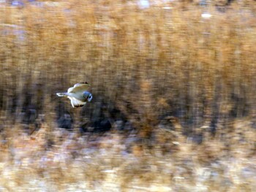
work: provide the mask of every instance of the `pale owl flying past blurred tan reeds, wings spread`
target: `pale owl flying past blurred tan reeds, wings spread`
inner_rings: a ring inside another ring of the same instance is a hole
[[[78,82],[67,90],[67,93],[56,93],[57,96],[67,96],[70,99],[72,107],[83,107],[86,102],[90,102],[92,94],[87,91],[90,87],[88,82]]]

